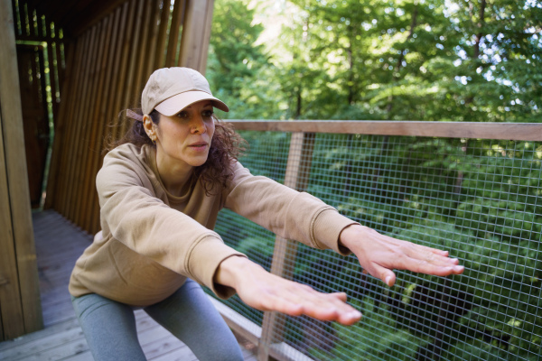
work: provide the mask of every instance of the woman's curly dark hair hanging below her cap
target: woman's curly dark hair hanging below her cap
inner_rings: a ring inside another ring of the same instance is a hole
[[[143,116],[141,109],[131,109],[135,114]],[[126,111],[121,112],[119,117],[125,118],[121,121],[126,121]],[[153,123],[160,123],[160,113],[153,110],[151,114]],[[207,162],[199,167],[195,167],[192,173],[192,182],[200,180],[201,186],[205,190],[205,194],[219,194],[223,188],[229,187],[229,181],[233,179],[233,164],[237,162],[246,150],[248,143],[238,133],[230,123],[222,122],[217,116],[213,115],[215,120],[215,133],[210,142],[209,156]],[[121,123],[122,124],[122,123]],[[124,143],[132,143],[137,147],[145,144],[156,147],[156,144],[151,141],[145,132],[143,122],[133,120],[132,126],[126,131],[126,134],[119,140],[109,139],[107,142],[106,151],[116,148]],[[220,185],[218,189],[217,185]]]

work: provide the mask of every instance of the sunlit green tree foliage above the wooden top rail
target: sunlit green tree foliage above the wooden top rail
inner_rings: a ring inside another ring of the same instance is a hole
[[[217,0],[208,76],[235,118],[540,122],[540,23],[530,0]]]

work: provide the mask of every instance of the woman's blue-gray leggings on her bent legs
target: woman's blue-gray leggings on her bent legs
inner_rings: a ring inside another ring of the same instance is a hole
[[[72,297],[71,301],[96,361],[146,360],[137,341],[133,307],[96,293]],[[144,310],[190,347],[200,361],[243,359],[228,325],[192,280]]]

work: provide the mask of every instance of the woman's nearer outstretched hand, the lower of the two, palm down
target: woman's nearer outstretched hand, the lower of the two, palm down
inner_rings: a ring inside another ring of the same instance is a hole
[[[241,256],[231,256],[219,266],[215,282],[234,288],[242,301],[257,310],[276,310],[290,316],[338,321],[344,325],[361,319],[346,303],[346,293],[322,293],[312,287],[268,273]]]

